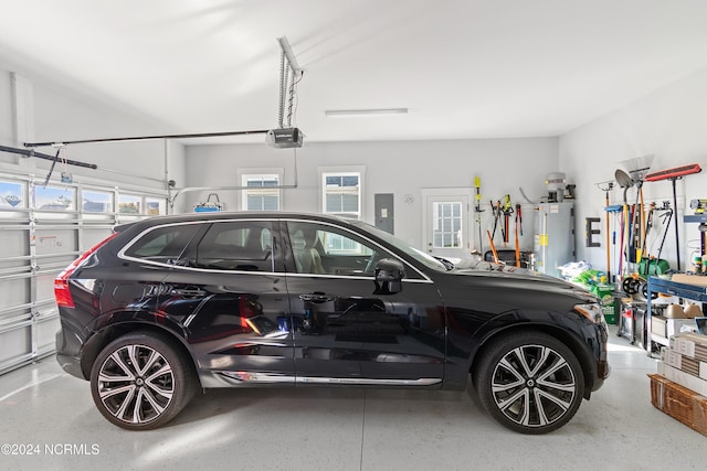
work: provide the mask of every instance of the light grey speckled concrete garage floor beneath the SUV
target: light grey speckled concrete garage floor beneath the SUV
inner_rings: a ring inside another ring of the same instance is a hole
[[[500,427],[467,393],[337,388],[209,390],[167,427],[129,432],[49,357],[0,376],[0,443],[35,452],[3,446],[0,469],[705,469],[707,437],[651,405],[656,361],[614,332],[604,387],[539,437]]]

